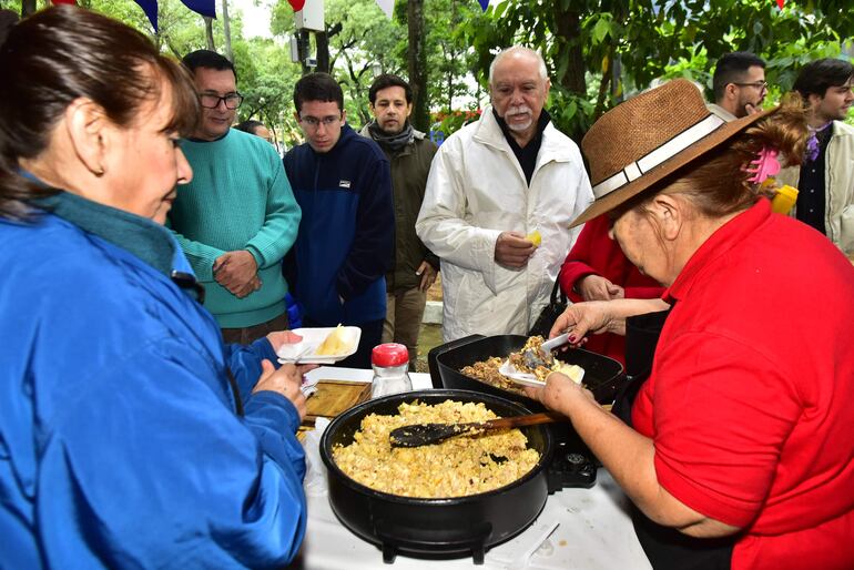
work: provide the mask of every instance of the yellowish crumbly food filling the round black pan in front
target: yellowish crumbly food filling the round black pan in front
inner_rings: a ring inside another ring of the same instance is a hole
[[[465,497],[498,489],[529,472],[540,460],[519,429],[479,437],[453,437],[423,447],[392,447],[389,432],[411,424],[484,421],[498,416],[482,403],[445,400],[400,404],[398,415],[370,414],[347,446],[333,449],[335,464],[372,489],[418,498]]]

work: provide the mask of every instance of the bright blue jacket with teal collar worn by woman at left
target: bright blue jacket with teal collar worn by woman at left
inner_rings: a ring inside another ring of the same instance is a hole
[[[293,404],[251,394],[270,343],[223,346],[162,226],[50,210],[0,218],[0,567],[285,566],[305,459]]]

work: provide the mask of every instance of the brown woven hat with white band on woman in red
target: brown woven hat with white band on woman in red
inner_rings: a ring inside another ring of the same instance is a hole
[[[596,201],[570,227],[613,210],[772,112],[728,123],[709,112],[700,91],[684,79],[617,105],[581,141]]]

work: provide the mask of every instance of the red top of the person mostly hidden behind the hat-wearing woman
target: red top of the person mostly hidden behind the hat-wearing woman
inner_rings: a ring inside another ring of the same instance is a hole
[[[643,275],[626,257],[620,245],[608,236],[610,227],[607,216],[598,216],[584,224],[560,267],[560,288],[573,303],[580,303],[584,299],[572,291],[576,283],[588,275],[601,275],[621,286],[626,298],[659,298],[664,287]],[[626,364],[626,337],[622,335],[590,335],[584,348]]]

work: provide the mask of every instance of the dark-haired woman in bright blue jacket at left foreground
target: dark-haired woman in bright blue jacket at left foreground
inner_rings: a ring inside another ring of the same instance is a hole
[[[162,226],[191,79],[71,6],[0,43],[0,567],[286,564],[305,370],[223,346]]]

